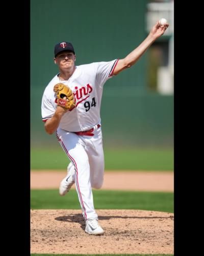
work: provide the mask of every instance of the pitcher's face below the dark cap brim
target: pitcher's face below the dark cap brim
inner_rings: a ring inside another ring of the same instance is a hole
[[[55,62],[60,69],[72,68],[75,62],[75,55],[72,52],[64,51],[57,55]]]

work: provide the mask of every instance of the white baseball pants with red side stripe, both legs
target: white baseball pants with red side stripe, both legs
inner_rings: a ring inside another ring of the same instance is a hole
[[[97,218],[92,188],[100,188],[104,181],[104,151],[101,127],[94,126],[94,136],[79,136],[62,129],[57,138],[75,167],[75,187],[84,219]]]

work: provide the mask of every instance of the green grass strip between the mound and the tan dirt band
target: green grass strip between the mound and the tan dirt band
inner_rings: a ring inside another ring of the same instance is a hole
[[[95,209],[141,209],[173,212],[173,193],[93,190]],[[31,209],[81,209],[77,191],[65,197],[57,189],[31,190]]]

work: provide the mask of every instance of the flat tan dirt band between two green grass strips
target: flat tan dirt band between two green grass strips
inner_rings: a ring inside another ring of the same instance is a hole
[[[60,181],[66,176],[64,172],[42,170],[31,172],[31,188],[59,188]],[[72,186],[74,189],[74,185]],[[101,189],[136,190],[136,191],[173,191],[173,172],[105,172]]]

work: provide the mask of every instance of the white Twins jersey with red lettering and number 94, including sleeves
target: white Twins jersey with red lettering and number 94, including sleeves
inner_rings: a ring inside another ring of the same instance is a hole
[[[62,116],[59,129],[68,132],[87,131],[100,123],[103,86],[113,76],[117,62],[118,59],[115,59],[77,66],[72,76],[65,81],[60,81],[57,74],[45,88],[42,97],[42,120],[51,118],[56,111],[57,100],[53,89],[60,82],[72,90],[76,106]]]

